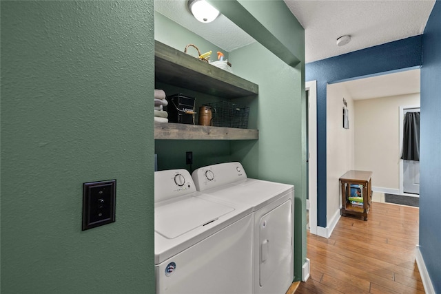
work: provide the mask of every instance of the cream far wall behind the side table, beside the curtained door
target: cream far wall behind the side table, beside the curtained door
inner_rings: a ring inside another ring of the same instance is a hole
[[[355,102],[355,168],[373,171],[372,186],[399,189],[400,106],[419,105],[420,94]]]

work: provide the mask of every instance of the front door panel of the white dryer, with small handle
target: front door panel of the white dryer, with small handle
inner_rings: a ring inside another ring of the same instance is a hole
[[[260,218],[259,284],[262,290],[274,289],[273,286],[277,285],[285,287],[281,283],[285,280],[292,282],[289,276],[294,271],[292,223],[291,200],[283,202]]]

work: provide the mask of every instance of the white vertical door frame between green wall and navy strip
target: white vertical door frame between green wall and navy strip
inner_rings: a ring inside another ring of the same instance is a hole
[[[305,82],[309,91],[308,102],[308,145],[309,145],[309,233],[317,235],[317,81]]]

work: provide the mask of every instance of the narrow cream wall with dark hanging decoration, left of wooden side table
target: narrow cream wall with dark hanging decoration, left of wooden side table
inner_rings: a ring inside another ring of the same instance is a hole
[[[349,110],[349,129],[343,128],[343,98]],[[327,85],[327,227],[340,216],[339,178],[354,169],[354,105],[342,84]]]

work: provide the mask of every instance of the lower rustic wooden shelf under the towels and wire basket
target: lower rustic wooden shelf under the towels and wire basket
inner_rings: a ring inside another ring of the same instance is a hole
[[[258,136],[257,129],[154,123],[156,140],[256,140]]]

